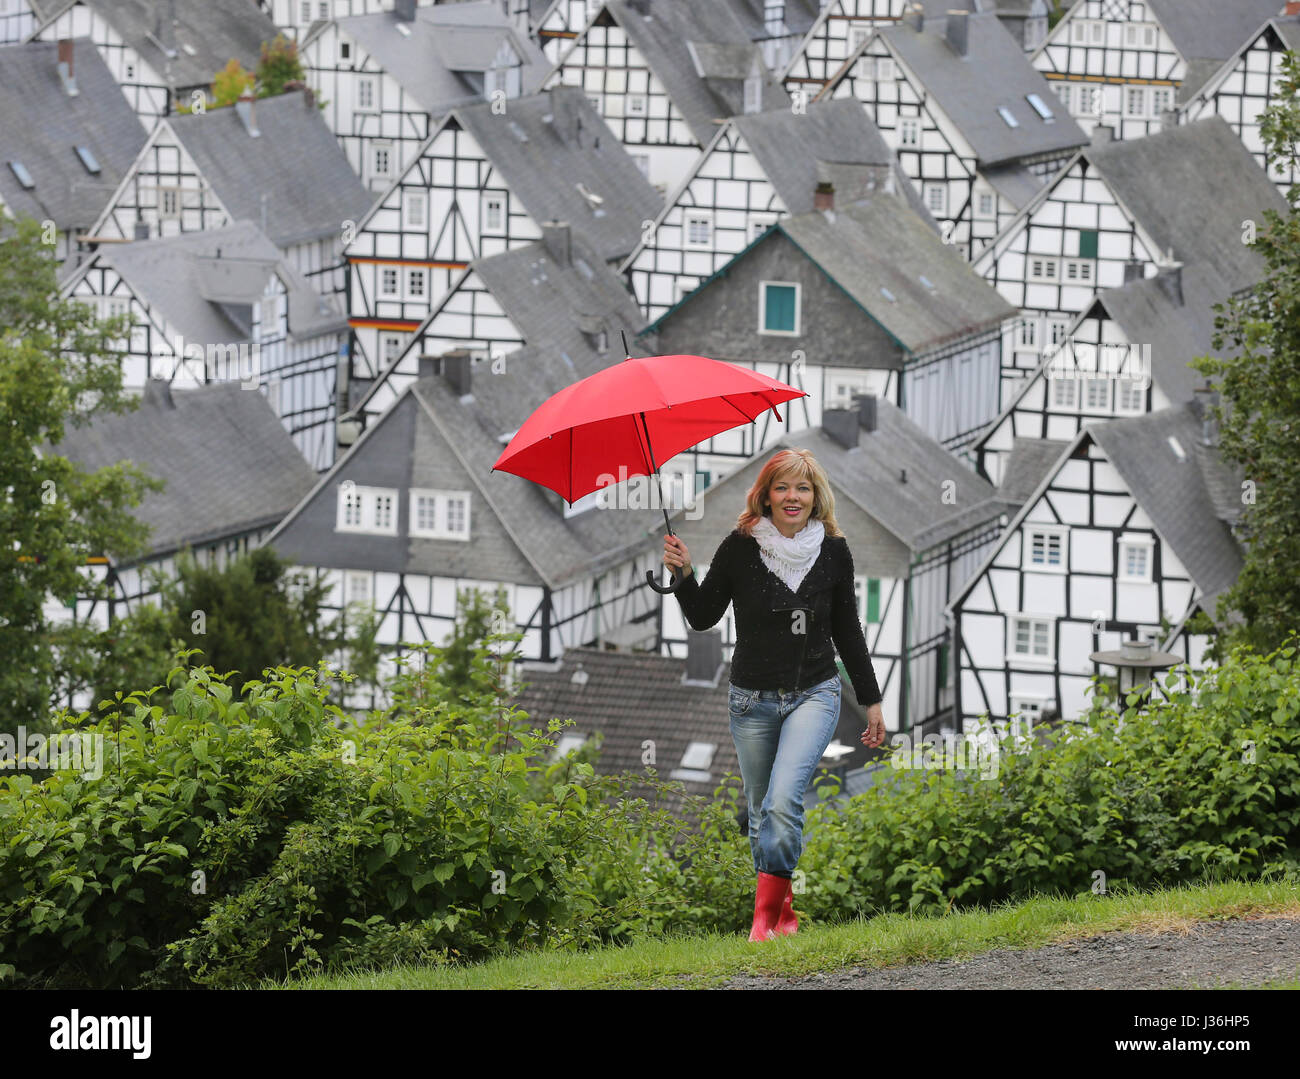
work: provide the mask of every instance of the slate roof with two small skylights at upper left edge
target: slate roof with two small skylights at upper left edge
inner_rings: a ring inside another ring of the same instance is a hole
[[[147,131],[88,38],[73,40],[69,98],[58,77],[58,46],[32,42],[0,48],[0,200],[17,217],[88,229],[144,146]],[[91,173],[74,147],[84,146]],[[10,168],[21,161],[34,186]]]

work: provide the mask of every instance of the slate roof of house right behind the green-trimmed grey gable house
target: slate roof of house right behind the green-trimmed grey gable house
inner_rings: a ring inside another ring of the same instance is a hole
[[[845,166],[866,166],[857,170],[864,178],[893,169],[893,152],[857,101],[819,101],[803,114],[792,109],[750,113],[733,117],[732,124],[790,213],[812,209],[812,192],[828,178],[828,166],[841,166],[845,176],[853,172]],[[836,190],[846,195],[842,178]]]

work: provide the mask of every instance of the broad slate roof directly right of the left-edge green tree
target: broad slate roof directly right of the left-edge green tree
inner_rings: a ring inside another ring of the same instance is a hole
[[[133,511],[150,554],[274,524],[316,482],[265,396],[239,382],[146,390],[138,411],[69,428],[55,447],[86,469],[131,462],[162,478]]]

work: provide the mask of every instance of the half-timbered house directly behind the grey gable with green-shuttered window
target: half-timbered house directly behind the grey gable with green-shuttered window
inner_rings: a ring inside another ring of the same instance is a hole
[[[819,182],[842,203],[872,191],[914,195],[854,101],[732,117],[620,268],[641,309],[658,318],[770,225],[811,211]]]

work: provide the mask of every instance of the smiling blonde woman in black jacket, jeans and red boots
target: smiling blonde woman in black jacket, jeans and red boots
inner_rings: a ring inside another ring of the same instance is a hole
[[[867,708],[863,745],[879,746],[885,737],[880,688],[858,620],[853,556],[835,520],[826,469],[807,450],[774,455],[703,582],[681,538],[663,541],[664,564],[681,567],[673,594],[693,629],[708,629],[734,606],[731,732],[758,874],[749,939],[793,933],[803,792],[840,720],[836,649]]]

